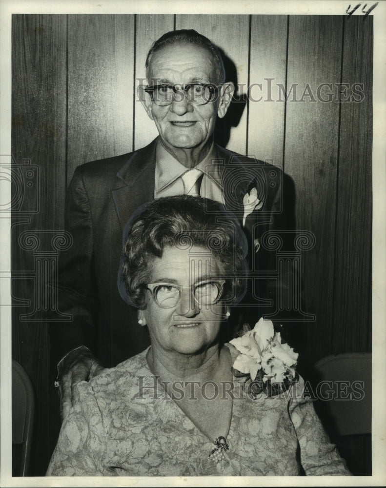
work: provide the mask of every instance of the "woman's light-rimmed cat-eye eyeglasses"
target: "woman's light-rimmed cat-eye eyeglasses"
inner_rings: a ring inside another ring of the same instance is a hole
[[[178,304],[183,289],[193,289],[193,298],[199,305],[216,304],[223,293],[225,280],[202,281],[190,286],[180,286],[172,283],[151,283],[146,287],[157,305],[171,308]]]

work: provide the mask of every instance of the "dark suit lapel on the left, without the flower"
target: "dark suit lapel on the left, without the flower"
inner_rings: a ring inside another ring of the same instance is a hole
[[[111,194],[122,231],[140,205],[154,200],[156,145],[157,139],[135,151],[117,173],[125,186],[112,190]]]

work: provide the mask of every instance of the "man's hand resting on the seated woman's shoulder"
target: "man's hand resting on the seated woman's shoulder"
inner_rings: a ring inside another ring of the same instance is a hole
[[[73,349],[61,359],[55,386],[59,388],[62,421],[76,402],[78,383],[91,380],[103,369],[98,359],[85,346]]]

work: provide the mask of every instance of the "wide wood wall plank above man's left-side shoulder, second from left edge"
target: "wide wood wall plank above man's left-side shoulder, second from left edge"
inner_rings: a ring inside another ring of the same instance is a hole
[[[132,150],[134,16],[68,16],[68,181]]]

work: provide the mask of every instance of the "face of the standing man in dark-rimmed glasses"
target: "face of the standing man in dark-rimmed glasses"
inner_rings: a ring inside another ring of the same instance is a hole
[[[153,55],[149,68],[150,84],[151,80],[171,85],[219,83],[211,54],[191,44],[164,47]],[[217,115],[223,117],[227,109],[221,96],[214,102],[197,105],[188,102],[180,92],[170,105],[157,105],[150,97],[144,105],[163,143],[172,148],[203,146],[213,134]]]

